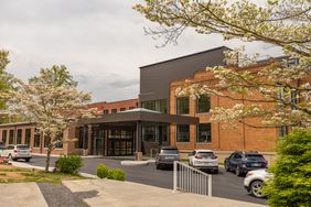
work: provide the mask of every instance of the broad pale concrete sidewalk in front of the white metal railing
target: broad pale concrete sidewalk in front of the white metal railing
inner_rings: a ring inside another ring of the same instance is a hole
[[[97,190],[98,196],[84,199],[92,207],[262,207],[251,203],[186,194],[170,189],[111,179],[64,181],[73,193]]]

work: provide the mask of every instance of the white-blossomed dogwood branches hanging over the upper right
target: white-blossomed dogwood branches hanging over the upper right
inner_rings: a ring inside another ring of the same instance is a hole
[[[159,23],[160,26],[146,31],[163,37],[163,45],[175,43],[185,29],[194,29],[199,34],[222,34],[225,40],[261,41],[280,46],[287,59],[299,59],[299,64],[270,61],[260,72],[251,73],[243,68],[254,64],[256,55],[234,50],[226,54],[228,65],[234,67],[207,68],[218,79],[216,88],[185,81],[176,95],[196,98],[207,94],[239,101],[232,108],[212,111],[213,121],[229,126],[248,117],[260,117],[264,127],[310,127],[311,1],[144,0],[135,9]],[[240,98],[235,94],[242,95]],[[251,98],[254,94],[261,98]],[[264,107],[266,103],[276,107]]]

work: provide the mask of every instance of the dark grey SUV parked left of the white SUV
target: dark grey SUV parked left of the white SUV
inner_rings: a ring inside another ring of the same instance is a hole
[[[161,146],[156,156],[157,168],[162,166],[173,166],[174,161],[180,161],[180,152],[175,146]]]

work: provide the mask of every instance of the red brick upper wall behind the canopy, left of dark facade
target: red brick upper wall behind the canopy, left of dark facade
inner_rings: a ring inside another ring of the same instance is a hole
[[[117,112],[121,111],[121,108],[125,108],[126,110],[129,110],[131,108],[138,107],[138,99],[129,99],[129,100],[120,100],[120,101],[114,101],[114,102],[94,102],[88,105],[89,108],[97,108],[101,113],[104,110],[108,110],[108,113],[112,113],[112,109],[117,109]]]

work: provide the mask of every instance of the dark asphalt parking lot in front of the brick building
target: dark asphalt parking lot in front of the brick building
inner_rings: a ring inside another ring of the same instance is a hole
[[[56,157],[51,157],[51,165],[53,166]],[[23,161],[21,161],[23,162]],[[44,166],[45,157],[34,156],[30,163],[35,166]],[[96,174],[96,166],[105,164],[111,168],[122,168],[126,172],[127,181],[152,185],[163,188],[173,188],[173,172],[170,170],[156,170],[154,163],[147,166],[122,166],[119,160],[107,159],[84,159],[83,173]],[[218,174],[213,174],[213,196],[250,201],[256,204],[266,204],[266,199],[255,198],[249,195],[243,186],[243,177],[237,177],[234,173],[225,172],[219,167]]]

